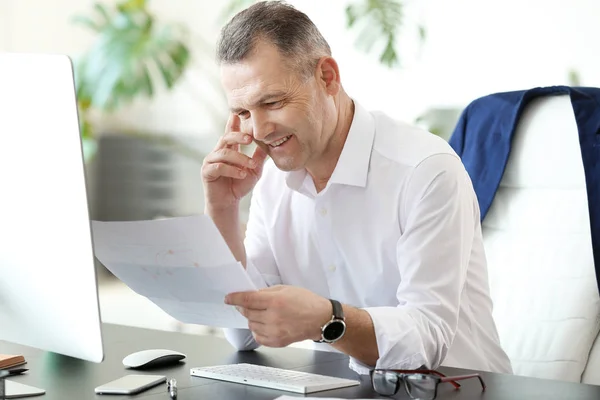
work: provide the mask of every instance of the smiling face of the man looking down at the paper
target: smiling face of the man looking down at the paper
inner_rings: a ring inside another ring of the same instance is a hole
[[[305,168],[324,151],[335,128],[333,102],[314,76],[290,68],[275,46],[257,44],[247,60],[224,65],[221,80],[241,131],[279,169]]]

